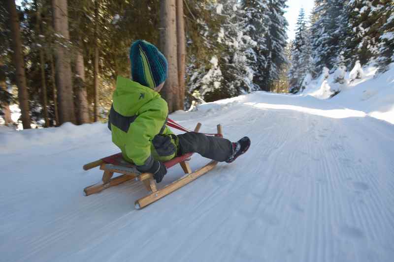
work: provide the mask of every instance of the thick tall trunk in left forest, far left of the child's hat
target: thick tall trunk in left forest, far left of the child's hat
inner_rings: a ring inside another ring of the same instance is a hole
[[[68,31],[67,0],[52,0],[53,21],[56,33],[60,34],[61,44],[55,48],[56,78],[59,98],[59,124],[75,123],[74,95],[69,49],[64,45],[70,39]]]

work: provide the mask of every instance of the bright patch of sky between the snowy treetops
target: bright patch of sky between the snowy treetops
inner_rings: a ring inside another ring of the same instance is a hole
[[[299,9],[303,7],[305,9],[306,18],[309,18],[309,15],[313,9],[313,4],[314,4],[314,0],[288,0],[287,1],[287,5],[289,7],[286,9],[287,12],[285,13],[285,17],[287,19],[287,22],[289,22],[289,27],[287,32],[289,35],[289,39],[288,39],[289,41],[295,38],[295,33],[296,33],[295,29],[296,29]]]

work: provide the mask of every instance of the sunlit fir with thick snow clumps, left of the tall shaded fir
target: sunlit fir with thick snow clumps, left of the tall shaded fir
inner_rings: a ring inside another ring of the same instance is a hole
[[[222,53],[213,58],[213,67],[220,70],[221,82],[216,78],[214,83],[201,88],[200,93],[206,101],[228,98],[257,89],[253,77],[257,56],[254,52],[256,42],[247,34],[245,11],[238,0],[218,1],[220,15],[224,23],[218,34],[218,46]],[[207,74],[209,74],[208,71]],[[211,78],[207,77],[207,81]]]

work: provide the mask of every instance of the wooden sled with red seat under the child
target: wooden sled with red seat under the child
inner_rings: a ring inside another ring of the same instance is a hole
[[[200,127],[201,127],[201,123],[198,123],[194,131],[198,132]],[[223,136],[221,125],[217,125],[217,130],[218,130],[218,135]],[[144,184],[145,188],[149,191],[149,194],[147,196],[142,197],[134,202],[134,206],[136,209],[143,208],[148,204],[152,204],[153,202],[158,201],[159,199],[165,197],[166,195],[192,182],[193,180],[197,179],[201,175],[204,175],[205,173],[213,169],[218,163],[212,160],[207,165],[196,170],[195,172],[192,172],[192,169],[190,168],[189,163],[187,162],[188,160],[190,160],[192,154],[193,153],[188,153],[183,156],[175,157],[170,161],[164,163],[167,169],[171,168],[172,166],[175,166],[176,164],[179,164],[186,175],[164,186],[161,189],[157,188],[156,181],[153,178],[152,174],[139,173],[135,169],[135,166],[123,160],[122,153],[111,155],[102,158],[100,160],[97,160],[95,162],[86,164],[83,166],[84,170],[100,167],[100,170],[102,170],[104,174],[102,175],[102,179],[101,179],[102,182],[88,186],[84,189],[85,196],[99,193],[102,190],[107,189],[109,187],[119,185],[131,179],[135,179],[137,181],[138,180],[141,181]],[[119,173],[122,175],[112,178],[114,173]]]

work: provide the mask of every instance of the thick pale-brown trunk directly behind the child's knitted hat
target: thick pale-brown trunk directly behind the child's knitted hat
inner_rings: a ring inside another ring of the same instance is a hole
[[[167,101],[168,111],[172,113],[180,109],[175,0],[160,2],[160,49],[168,62],[168,78],[162,96]]]

